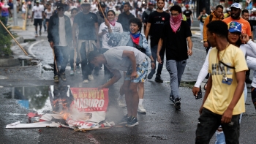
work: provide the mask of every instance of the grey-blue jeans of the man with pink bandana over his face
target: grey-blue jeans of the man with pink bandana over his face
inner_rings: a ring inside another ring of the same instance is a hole
[[[170,74],[170,96],[174,99],[179,97],[178,87],[181,83],[181,76],[187,64],[187,59],[182,61],[168,60],[166,61],[166,69]]]

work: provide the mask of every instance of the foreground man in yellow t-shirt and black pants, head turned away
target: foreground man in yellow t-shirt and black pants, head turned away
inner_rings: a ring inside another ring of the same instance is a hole
[[[239,118],[245,112],[244,80],[248,69],[244,53],[227,42],[227,24],[216,20],[207,25],[209,53],[206,94],[200,107],[195,143],[209,143],[219,125],[226,143],[239,143]],[[236,26],[234,26],[236,29]]]

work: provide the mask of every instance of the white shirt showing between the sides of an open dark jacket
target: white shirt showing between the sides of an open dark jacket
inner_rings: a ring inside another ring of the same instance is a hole
[[[67,46],[64,16],[59,17],[59,46]]]

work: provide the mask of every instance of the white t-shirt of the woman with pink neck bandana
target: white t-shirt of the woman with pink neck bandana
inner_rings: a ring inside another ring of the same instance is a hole
[[[110,24],[110,28],[112,29],[112,32],[123,32],[123,27],[121,26],[121,23],[116,22],[115,26],[112,26]],[[99,33],[102,32],[102,29],[105,29],[108,31],[108,26],[105,25],[105,23],[102,23],[99,26]],[[102,36],[102,48],[113,48],[115,46],[114,39],[110,39],[110,36],[108,33],[104,34]],[[117,42],[118,43],[118,42]]]

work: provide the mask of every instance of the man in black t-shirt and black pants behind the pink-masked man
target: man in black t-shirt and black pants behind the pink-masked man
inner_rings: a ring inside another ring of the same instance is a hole
[[[165,22],[170,20],[170,14],[168,14],[163,10],[163,7],[165,7],[165,1],[158,0],[157,7],[158,7],[157,10],[154,12],[151,12],[151,14],[148,16],[148,23],[146,24],[146,31],[145,31],[145,36],[147,39],[148,39],[148,35],[150,35],[151,53],[154,58],[155,64],[157,60],[157,44],[161,37],[161,33],[159,33],[159,31],[162,31]],[[160,56],[162,58],[161,61],[163,61],[164,55],[165,53],[162,53],[162,55]],[[158,64],[157,75],[156,75],[156,78],[154,79],[158,83],[163,82],[161,78],[162,65],[163,64],[160,64],[160,63]],[[156,69],[151,69],[151,72],[148,74],[148,79],[151,79],[155,72],[156,72]]]

